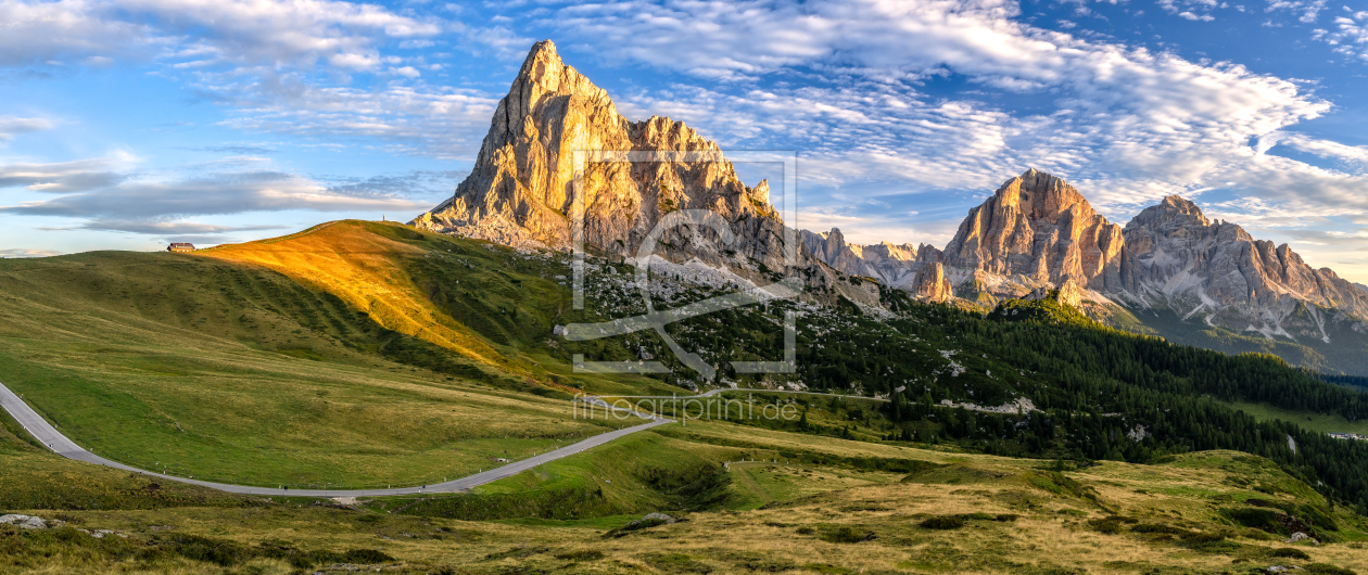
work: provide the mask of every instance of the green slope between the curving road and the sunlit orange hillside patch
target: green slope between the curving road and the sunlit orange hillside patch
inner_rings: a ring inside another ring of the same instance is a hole
[[[5,260],[0,294],[0,381],[82,445],[140,467],[248,485],[416,485],[603,429],[483,369],[476,381],[510,389],[395,363],[477,367],[254,265]]]

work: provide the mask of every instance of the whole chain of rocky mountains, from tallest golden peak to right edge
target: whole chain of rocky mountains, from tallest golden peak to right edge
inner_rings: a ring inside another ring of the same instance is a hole
[[[575,154],[581,150],[692,158],[591,163],[576,190]],[[733,243],[720,242],[706,225],[684,225],[662,235],[655,253],[757,283],[780,272],[802,275],[810,296],[828,303],[845,298],[880,306],[884,285],[925,302],[988,310],[1057,290],[1060,300],[1122,329],[1368,376],[1368,288],[1306,265],[1287,244],[1211,221],[1176,195],[1122,227],[1063,179],[1027,169],[971,209],[944,250],[847,243],[840,229],[799,231],[798,257],[787,261],[784,238],[792,231],[770,206],[766,182],[741,183],[717,143],[681,122],[628,120],[603,89],[543,41],[499,101],[472,173],[412,224],[565,250],[573,244],[577,209],[586,246],[624,258],[635,257],[636,246],[673,212],[715,213],[735,231]]]

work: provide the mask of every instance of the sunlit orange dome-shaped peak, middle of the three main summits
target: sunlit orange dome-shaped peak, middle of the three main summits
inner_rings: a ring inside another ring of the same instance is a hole
[[[941,262],[966,280],[974,272],[1007,279],[975,287],[1005,295],[1068,279],[1119,291],[1129,280],[1123,246],[1120,225],[1097,214],[1064,180],[1033,168],[970,210]]]

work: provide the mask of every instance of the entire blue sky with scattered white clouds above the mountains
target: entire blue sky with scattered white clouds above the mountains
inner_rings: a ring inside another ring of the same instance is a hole
[[[542,38],[629,119],[798,150],[802,228],[944,246],[1036,167],[1368,283],[1361,0],[0,0],[0,255],[408,220]]]

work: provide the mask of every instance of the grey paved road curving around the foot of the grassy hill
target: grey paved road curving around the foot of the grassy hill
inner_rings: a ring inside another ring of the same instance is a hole
[[[596,403],[601,407],[613,408],[607,406],[607,403],[603,403],[596,397],[590,397],[587,400]],[[665,423],[673,423],[673,419],[666,419],[659,417],[651,418],[651,417],[644,417],[642,414],[636,414],[643,419],[650,419],[650,422],[633,427],[618,429],[616,432],[601,433],[584,441],[570,444],[555,451],[550,451],[520,462],[513,462],[505,464],[503,467],[495,467],[492,470],[477,473],[471,477],[462,477],[456,481],[447,481],[445,483],[432,483],[417,488],[397,488],[397,489],[324,490],[324,489],[271,489],[271,488],[253,488],[246,485],[215,483],[211,481],[187,479],[183,477],[163,475],[159,473],[140,470],[137,467],[130,467],[119,462],[111,462],[89,451],[85,451],[81,445],[77,445],[75,441],[71,441],[70,438],[67,438],[67,436],[63,436],[62,432],[57,432],[57,429],[53,427],[52,423],[48,423],[48,421],[42,418],[42,415],[38,415],[37,411],[29,407],[29,404],[25,403],[22,399],[19,399],[19,396],[14,395],[14,392],[10,391],[10,388],[7,388],[4,384],[0,384],[0,407],[4,407],[4,410],[8,411],[10,415],[14,417],[19,422],[19,425],[22,425],[23,429],[29,432],[29,434],[31,434],[34,438],[47,445],[48,449],[52,449],[57,455],[67,459],[75,459],[78,462],[94,463],[97,466],[140,473],[148,477],[156,477],[167,481],[178,481],[182,483],[198,485],[228,493],[245,493],[257,496],[301,496],[301,497],[361,497],[361,496],[373,497],[373,496],[406,496],[406,494],[423,494],[423,493],[464,492],[479,485],[517,475],[523,471],[527,471],[543,463],[554,462],[557,459],[575,455],[598,445],[603,445],[622,436],[628,436],[636,432],[643,432]]]

